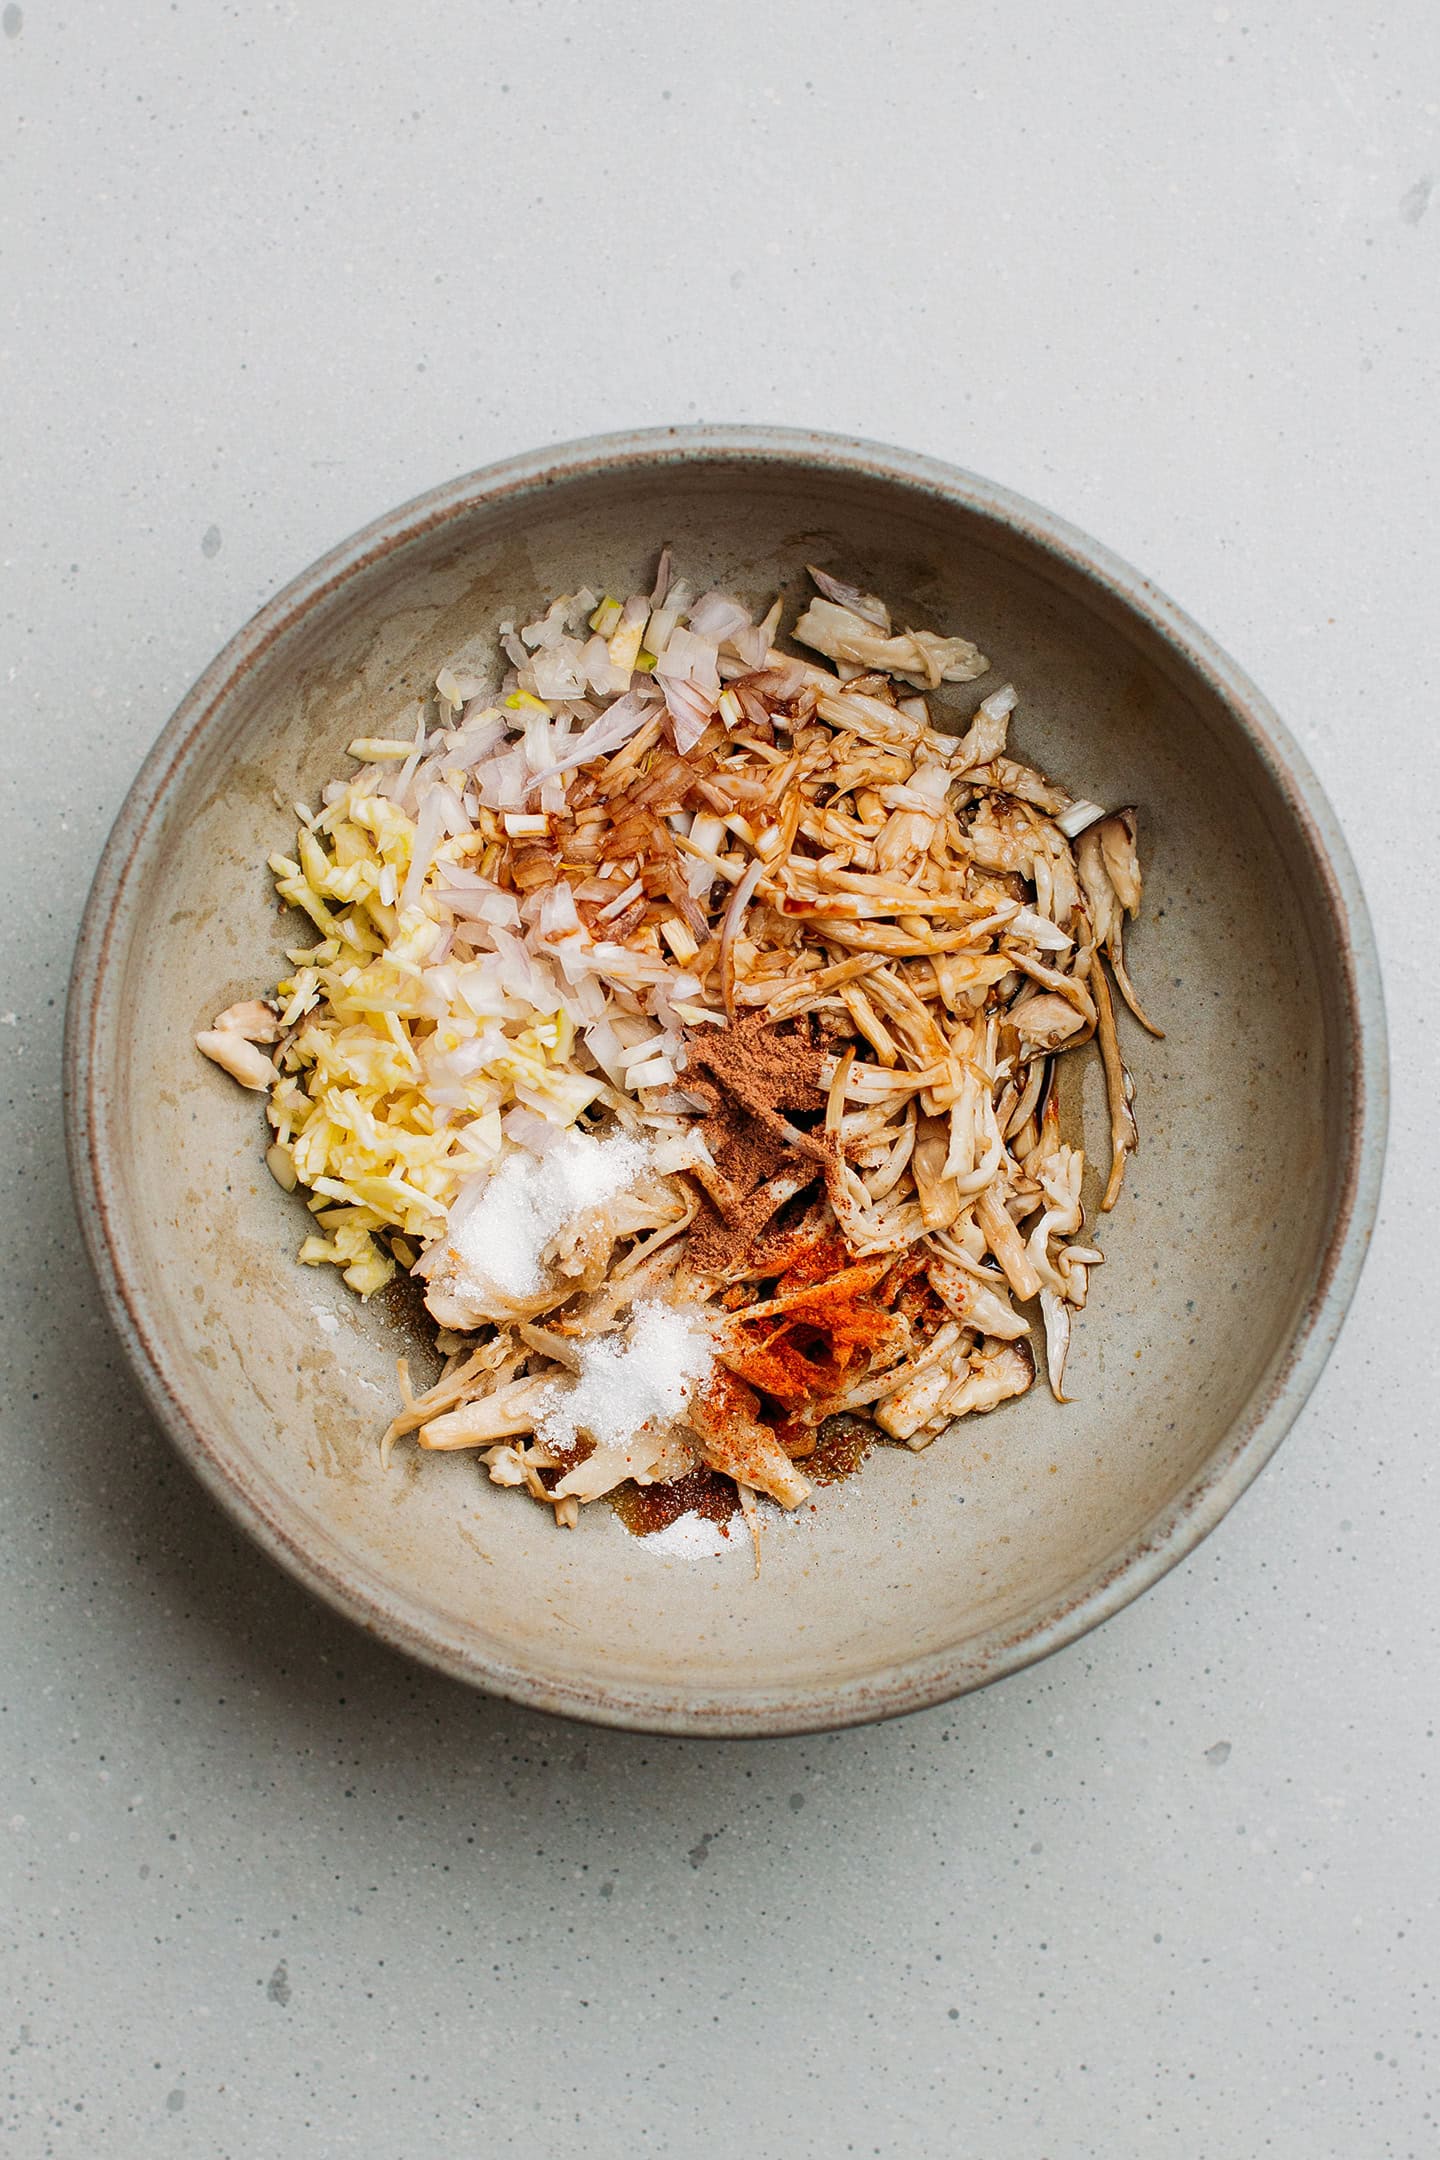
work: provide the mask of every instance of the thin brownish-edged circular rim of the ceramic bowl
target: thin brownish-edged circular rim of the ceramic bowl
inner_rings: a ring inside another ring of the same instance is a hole
[[[112,989],[117,953],[145,840],[164,816],[190,758],[229,693],[291,631],[369,564],[479,503],[522,497],[594,473],[674,464],[792,467],[881,480],[937,497],[1002,527],[1067,572],[1079,575],[1157,633],[1198,674],[1248,737],[1278,786],[1328,903],[1328,940],[1339,961],[1341,1013],[1354,1093],[1347,1156],[1313,1296],[1289,1344],[1203,1471],[1092,1579],[1041,1620],[991,1631],[969,1650],[937,1650],[877,1674],[803,1689],[687,1691],[684,1687],[576,1685],[475,1655],[382,1575],[343,1555],[317,1553],[272,1508],[268,1490],[229,1460],[225,1436],[205,1430],[186,1400],[184,1361],[168,1352],[145,1285],[121,1257],[119,1207],[108,1140],[106,1061],[97,1028]],[[762,1737],[818,1732],[896,1717],[969,1693],[1049,1657],[1120,1611],[1200,1544],[1272,1458],[1315,1387],[1354,1298],[1380,1199],[1388,1123],[1388,1063],[1382,976],[1360,879],[1319,780],[1287,726],[1228,654],[1151,579],[1075,525],[961,467],[859,436],[807,428],[674,426],[587,436],[505,458],[443,482],[365,525],[274,594],[216,654],[145,758],[114,819],[95,870],[76,946],[65,1015],[65,1134],[84,1242],[101,1298],[149,1408],[255,1542],[289,1575],[367,1633],[488,1693],[531,1709],[641,1732]]]

